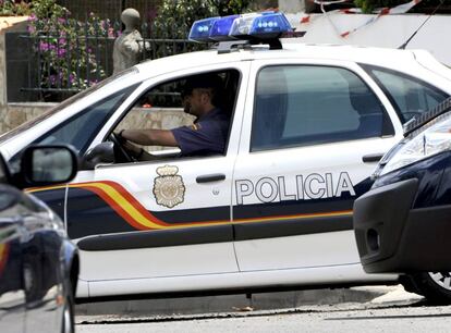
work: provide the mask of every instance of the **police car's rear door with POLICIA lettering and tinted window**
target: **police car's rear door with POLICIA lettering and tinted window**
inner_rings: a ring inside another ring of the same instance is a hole
[[[401,135],[393,110],[349,62],[255,61],[251,75],[233,174],[240,270],[358,263],[352,205]]]

